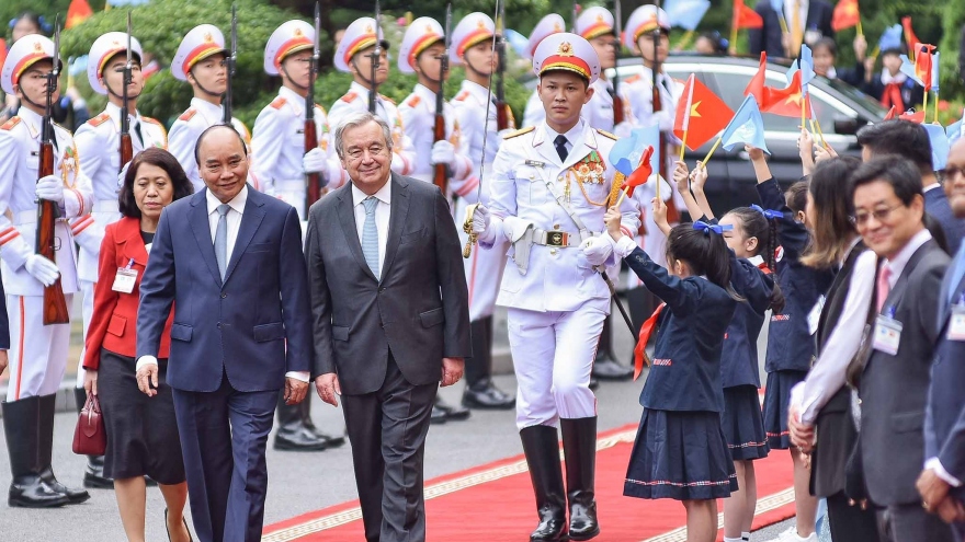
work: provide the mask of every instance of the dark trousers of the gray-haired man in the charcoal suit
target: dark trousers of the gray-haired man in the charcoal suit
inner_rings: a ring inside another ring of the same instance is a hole
[[[378,391],[342,395],[368,542],[425,540],[422,464],[438,389],[406,381],[389,355]]]

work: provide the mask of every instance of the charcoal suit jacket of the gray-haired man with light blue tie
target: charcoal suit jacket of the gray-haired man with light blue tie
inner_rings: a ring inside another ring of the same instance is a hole
[[[308,212],[306,260],[315,333],[313,379],[337,372],[343,393],[377,391],[389,351],[416,385],[440,379],[443,357],[470,357],[462,247],[434,185],[391,174],[382,279],[365,263],[352,185]]]

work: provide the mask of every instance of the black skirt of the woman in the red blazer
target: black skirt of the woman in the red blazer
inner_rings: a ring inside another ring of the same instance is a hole
[[[174,401],[166,383],[168,360],[158,364],[158,394],[148,397],[137,389],[135,359],[101,349],[98,399],[107,433],[105,476],[148,475],[159,484],[185,480]]]

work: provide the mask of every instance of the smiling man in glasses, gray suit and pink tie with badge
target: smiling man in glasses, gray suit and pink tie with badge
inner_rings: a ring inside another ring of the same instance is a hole
[[[878,255],[872,350],[860,373],[861,459],[870,499],[883,508],[882,540],[952,541],[922,508],[915,481],[924,463],[922,425],[949,255],[924,227],[917,168],[875,158],[852,176],[854,223]]]

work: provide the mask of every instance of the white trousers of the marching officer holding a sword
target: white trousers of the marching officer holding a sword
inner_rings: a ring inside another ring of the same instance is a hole
[[[571,312],[509,309],[519,429],[597,415],[590,371],[606,318],[598,304],[587,302]]]

